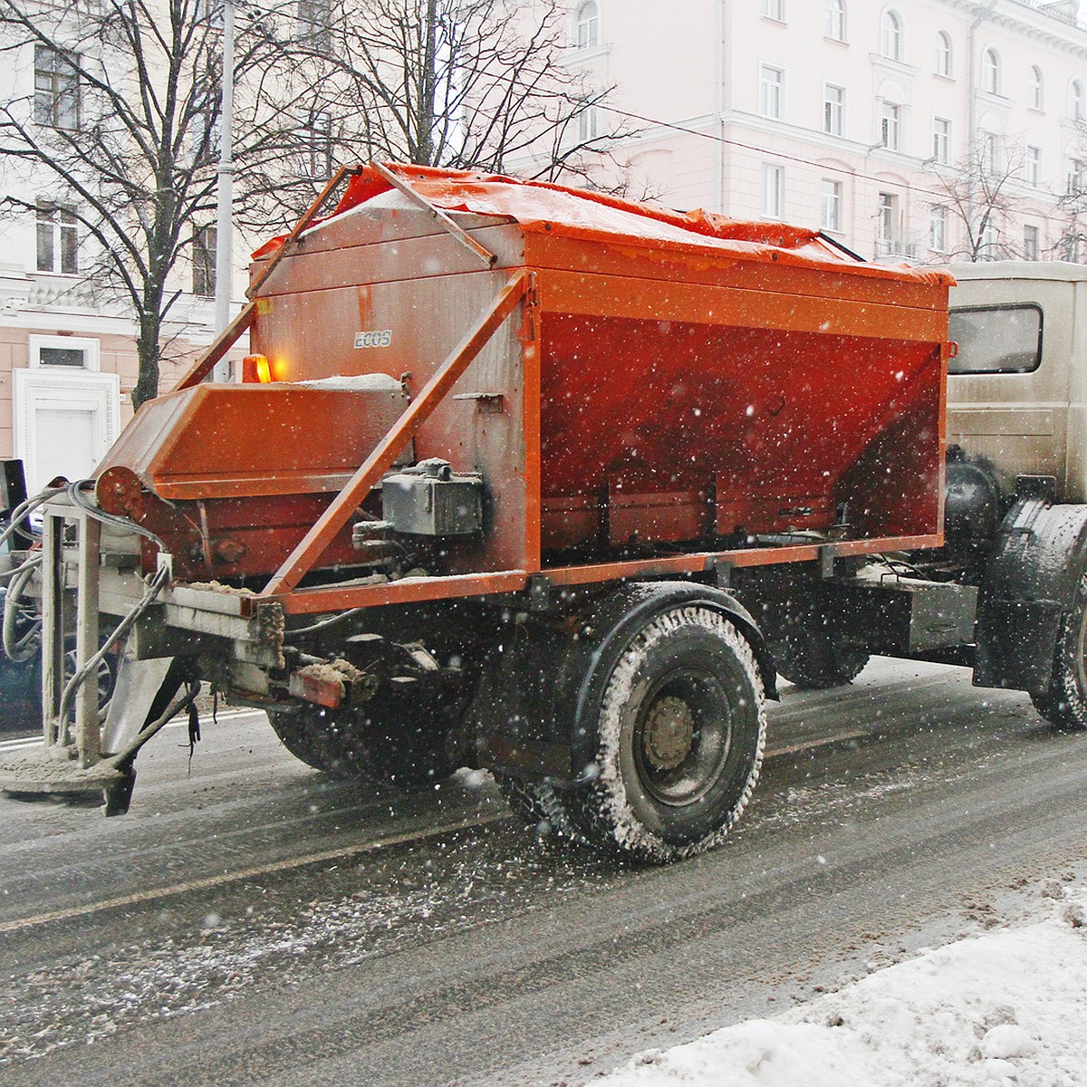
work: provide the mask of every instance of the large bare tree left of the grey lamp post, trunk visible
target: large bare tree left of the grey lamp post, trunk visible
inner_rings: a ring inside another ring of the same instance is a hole
[[[92,239],[80,271],[138,326],[137,405],[159,391],[163,327],[183,293],[175,268],[193,249],[207,255],[220,22],[208,0],[0,0],[0,48],[34,68],[33,87],[0,105],[4,203],[39,218],[63,209]],[[266,82],[277,57],[255,12],[241,17],[237,41],[236,72],[252,89],[239,96],[235,157],[282,162],[298,135],[266,123],[279,115]]]

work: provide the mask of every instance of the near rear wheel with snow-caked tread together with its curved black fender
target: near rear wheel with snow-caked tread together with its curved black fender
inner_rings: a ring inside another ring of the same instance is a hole
[[[498,663],[476,701],[482,761],[522,778],[550,774],[592,845],[664,862],[709,849],[739,816],[774,673],[728,594],[622,586],[563,624],[522,623]]]

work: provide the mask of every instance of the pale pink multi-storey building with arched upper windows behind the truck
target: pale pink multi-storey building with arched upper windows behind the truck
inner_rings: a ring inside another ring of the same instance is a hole
[[[630,191],[867,259],[1087,259],[1087,28],[1028,0],[586,0]],[[601,167],[601,184],[615,180]]]

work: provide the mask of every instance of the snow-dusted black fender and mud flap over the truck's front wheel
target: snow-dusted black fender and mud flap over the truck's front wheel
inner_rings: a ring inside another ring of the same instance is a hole
[[[1026,690],[1036,704],[1055,704],[1047,696],[1066,660],[1085,566],[1087,505],[1027,498],[1012,507],[982,585],[976,686]]]

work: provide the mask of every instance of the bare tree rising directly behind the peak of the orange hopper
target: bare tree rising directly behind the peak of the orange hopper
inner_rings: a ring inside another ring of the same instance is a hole
[[[321,71],[313,104],[341,159],[553,180],[588,175],[620,135],[601,120],[610,88],[567,63],[562,0],[304,3],[313,30],[284,50]]]

